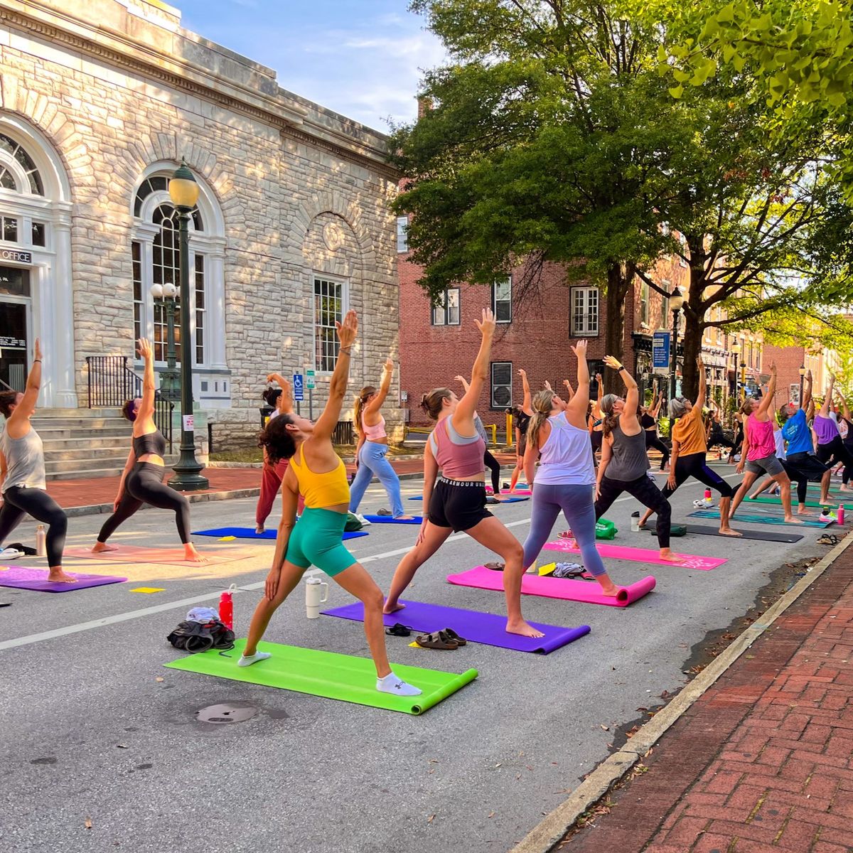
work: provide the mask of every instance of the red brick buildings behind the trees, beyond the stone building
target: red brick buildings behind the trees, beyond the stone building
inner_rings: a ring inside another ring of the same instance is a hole
[[[479,408],[485,423],[503,427],[504,409],[521,402],[519,368],[527,371],[534,390],[542,387],[544,380],[550,381],[555,389],[562,387],[564,379],[571,380],[574,385],[576,371],[569,346],[577,338],[588,340],[590,372],[595,374],[601,370],[601,359],[606,355],[607,316],[606,301],[599,287],[589,282],[568,285],[562,266],[550,264],[544,270],[540,287],[533,293],[526,293],[523,300],[517,294],[524,271],[519,268],[510,279],[491,287],[465,284],[450,287],[442,304],[432,307],[417,283],[421,267],[409,260],[406,222],[404,217],[397,219],[400,389],[404,414],[412,426],[428,423],[419,405],[424,392],[438,385],[449,385],[458,392],[460,386],[454,383],[453,377],[456,374],[467,376],[471,370],[479,348],[479,331],[474,320],[488,306],[495,310],[497,331],[491,352],[490,378]],[[650,277],[665,290],[680,287],[684,293],[688,274],[687,264],[672,256],[661,258]],[[718,316],[722,318],[722,313]],[[657,375],[659,386],[668,392],[669,369],[653,370],[652,344],[654,332],[670,330],[672,322],[669,300],[637,278],[625,305],[624,363],[637,378],[641,390],[650,387]],[[679,339],[684,330],[683,316],[680,325]],[[735,338],[717,328],[707,329],[703,356],[711,368],[711,392],[721,402],[736,392],[740,379],[730,351],[735,339],[743,340],[744,357],[749,366],[761,367],[760,335],[739,333]],[[681,375],[681,364],[679,357],[676,378]],[[749,376],[747,384],[751,384]]]

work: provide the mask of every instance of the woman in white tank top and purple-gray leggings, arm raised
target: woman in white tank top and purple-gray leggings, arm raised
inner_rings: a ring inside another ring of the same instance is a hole
[[[587,342],[572,346],[577,356],[577,391],[564,403],[550,389],[533,398],[527,432],[525,477],[535,484],[531,531],[525,541],[525,570],[533,565],[562,510],[581,549],[583,566],[601,584],[604,595],[617,595],[595,548],[595,462],[586,415],[589,405]],[[541,456],[540,456],[541,454]],[[539,467],[534,469],[539,458]]]

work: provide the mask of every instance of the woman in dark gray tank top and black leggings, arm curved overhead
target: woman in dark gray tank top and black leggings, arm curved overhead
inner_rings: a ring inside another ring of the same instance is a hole
[[[640,396],[636,380],[612,356],[605,356],[604,363],[622,377],[627,392],[624,398],[606,394],[601,400],[601,411],[605,415],[604,444],[595,484],[595,520],[600,519],[618,496],[627,491],[658,514],[660,559],[679,562],[682,557],[670,551],[670,502],[647,475],[650,466],[645,431],[637,418]]]

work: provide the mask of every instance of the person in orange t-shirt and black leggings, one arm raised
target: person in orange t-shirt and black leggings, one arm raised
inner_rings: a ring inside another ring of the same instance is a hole
[[[740,536],[738,531],[728,526],[728,508],[732,502],[734,490],[722,477],[712,471],[705,463],[708,446],[705,440],[705,423],[702,421],[702,407],[705,405],[705,364],[701,357],[696,359],[699,365],[699,397],[691,403],[686,397],[673,397],[670,400],[670,419],[672,427],[672,464],[670,476],[664,486],[664,497],[669,496],[682,483],[694,477],[700,483],[711,486],[720,493],[720,533],[722,536]],[[676,418],[678,419],[676,421]],[[640,526],[646,524],[652,510],[642,517]]]

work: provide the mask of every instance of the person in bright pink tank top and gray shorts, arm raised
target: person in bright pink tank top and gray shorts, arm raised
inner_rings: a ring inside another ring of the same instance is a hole
[[[772,477],[779,484],[786,522],[792,525],[801,525],[803,521],[795,518],[791,511],[791,479],[785,473],[785,468],[782,467],[779,457],[776,456],[773,421],[770,415],[775,392],[776,365],[771,364],[770,384],[761,402],[748,399],[740,407],[740,414],[746,416],[746,425],[744,427],[744,446],[737,473],[743,473],[744,467],[746,467],[746,476],[734,494],[728,518],[731,519],[734,516],[740,502],[749,492],[756,479],[766,473],[768,477]]]

